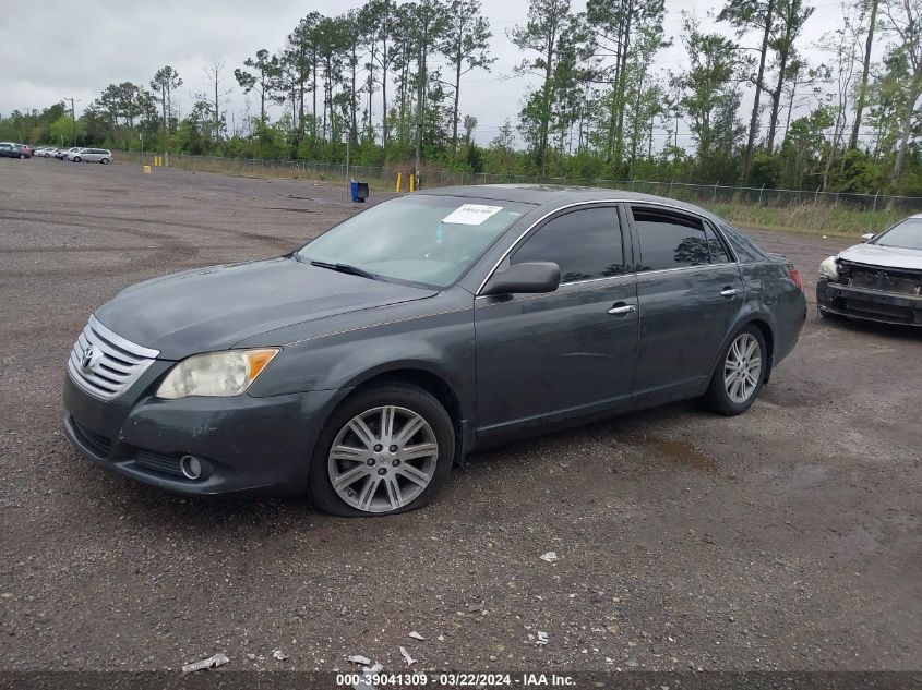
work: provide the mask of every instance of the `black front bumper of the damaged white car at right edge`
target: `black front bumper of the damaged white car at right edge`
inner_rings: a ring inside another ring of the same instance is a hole
[[[816,304],[821,311],[839,316],[922,326],[922,295],[867,290],[821,278]]]

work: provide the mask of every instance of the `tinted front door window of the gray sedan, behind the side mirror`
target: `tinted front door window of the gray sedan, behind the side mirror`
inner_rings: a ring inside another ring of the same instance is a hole
[[[619,276],[624,273],[624,251],[618,209],[585,208],[552,218],[510,262],[554,262],[560,266],[561,282]]]

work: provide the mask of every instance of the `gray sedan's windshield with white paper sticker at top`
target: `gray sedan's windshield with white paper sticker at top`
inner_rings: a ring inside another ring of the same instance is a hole
[[[384,202],[308,243],[298,258],[444,288],[534,206],[419,195]]]

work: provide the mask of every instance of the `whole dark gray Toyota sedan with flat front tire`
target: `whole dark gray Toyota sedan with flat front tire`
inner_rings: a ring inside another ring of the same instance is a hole
[[[740,414],[805,315],[790,263],[695,206],[431,190],[122,291],[73,348],[64,428],[170,492],[399,512],[475,449],[686,398]]]

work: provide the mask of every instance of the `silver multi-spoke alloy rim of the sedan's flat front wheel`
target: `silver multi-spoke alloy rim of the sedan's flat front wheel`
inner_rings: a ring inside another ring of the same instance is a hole
[[[429,422],[395,405],[372,408],[349,420],[333,439],[330,482],[346,504],[366,512],[390,512],[429,486],[439,443]]]

